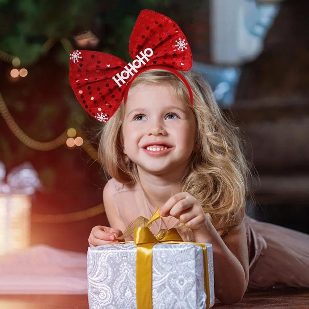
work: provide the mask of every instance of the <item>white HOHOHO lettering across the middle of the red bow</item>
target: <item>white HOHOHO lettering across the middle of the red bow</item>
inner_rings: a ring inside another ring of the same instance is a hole
[[[126,79],[130,76],[134,76],[137,73],[142,64],[146,64],[149,61],[148,57],[151,57],[154,54],[151,48],[144,49],[144,52],[140,52],[139,55],[136,56],[137,59],[133,60],[132,63],[129,62],[128,65],[125,66],[125,70],[123,70],[120,74],[117,73],[112,79],[117,83],[119,87],[126,83]],[[145,62],[145,61],[146,62]],[[121,83],[120,83],[121,82]]]

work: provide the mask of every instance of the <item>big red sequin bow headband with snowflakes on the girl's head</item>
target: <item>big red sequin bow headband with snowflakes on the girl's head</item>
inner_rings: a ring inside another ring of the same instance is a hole
[[[129,40],[133,61],[88,50],[74,50],[70,54],[70,85],[83,108],[96,120],[107,122],[126,102],[130,84],[139,74],[150,69],[173,72],[192,90],[178,73],[192,67],[192,53],[184,33],[168,17],[150,10],[138,15]]]

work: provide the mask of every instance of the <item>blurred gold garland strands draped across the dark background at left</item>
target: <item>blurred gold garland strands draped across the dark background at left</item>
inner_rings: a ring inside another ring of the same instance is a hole
[[[44,52],[48,52],[53,45],[55,44],[57,40],[55,39],[49,39],[43,44],[43,50]],[[72,44],[69,40],[62,38],[60,40],[62,46],[66,51],[70,54],[70,52],[74,49]],[[0,59],[9,63],[13,63],[14,59],[18,59],[15,56],[12,56],[8,53],[5,53],[0,50]],[[19,59],[18,59],[19,60]],[[19,61],[17,61],[20,63]],[[19,65],[18,65],[19,66]],[[32,138],[30,138],[26,133],[23,132],[22,129],[16,124],[14,118],[11,116],[11,113],[9,112],[3,98],[0,92],[0,113],[8,125],[9,129],[12,131],[12,133],[26,146],[40,151],[49,151],[53,150],[61,145],[64,145],[68,139],[68,133],[67,130],[63,132],[60,136],[55,138],[53,141],[49,142],[38,142]],[[98,153],[95,150],[95,148],[91,145],[91,143],[88,141],[86,136],[83,134],[82,131],[78,131],[77,135],[81,138],[83,138],[83,149],[87,152],[89,156],[92,157],[95,161],[98,160]],[[44,214],[32,214],[32,221],[34,222],[46,222],[46,223],[62,223],[62,222],[73,222],[73,221],[79,221],[84,220],[87,218],[91,218],[94,216],[97,216],[99,214],[103,214],[105,212],[104,205],[99,204],[97,206],[73,212],[70,214],[58,214],[58,215],[44,215]]]

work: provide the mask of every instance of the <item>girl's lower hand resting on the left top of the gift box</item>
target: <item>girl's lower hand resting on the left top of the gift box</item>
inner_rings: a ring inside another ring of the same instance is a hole
[[[90,247],[118,243],[116,237],[122,235],[122,231],[107,226],[95,226],[89,235],[88,243]]]

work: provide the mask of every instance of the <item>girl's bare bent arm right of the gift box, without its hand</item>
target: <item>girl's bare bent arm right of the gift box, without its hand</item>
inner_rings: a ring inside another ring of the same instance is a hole
[[[244,221],[224,241],[208,220],[204,228],[193,230],[196,242],[211,243],[214,253],[215,296],[223,304],[237,303],[247,290],[249,258]]]

